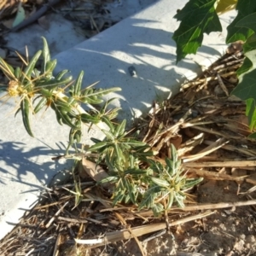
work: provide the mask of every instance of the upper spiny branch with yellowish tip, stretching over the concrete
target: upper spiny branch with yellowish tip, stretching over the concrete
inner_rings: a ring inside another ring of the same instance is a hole
[[[84,72],[79,74],[78,79],[72,82],[73,77],[68,74],[67,70],[63,70],[53,74],[57,61],[51,60],[49,55],[48,44],[43,38],[44,49],[38,52],[29,61],[23,61],[24,68],[13,68],[0,58],[0,68],[5,76],[9,79],[8,85],[2,85],[1,90],[6,91],[3,98],[15,97],[17,101],[17,111],[21,112],[23,124],[27,133],[33,137],[31,128],[31,115],[37,114],[43,108],[52,108],[60,125],[70,127],[69,145],[79,143],[81,139],[82,124],[98,124],[102,117],[113,119],[117,110],[107,111],[108,103],[105,102],[100,110],[92,107],[103,102],[102,96],[110,92],[120,90],[113,87],[109,89],[94,89],[93,85],[85,89],[81,89]],[[42,56],[42,60],[40,60]],[[38,67],[40,67],[38,69]],[[68,90],[67,90],[68,89]],[[90,112],[86,112],[81,107],[81,103],[85,103]]]

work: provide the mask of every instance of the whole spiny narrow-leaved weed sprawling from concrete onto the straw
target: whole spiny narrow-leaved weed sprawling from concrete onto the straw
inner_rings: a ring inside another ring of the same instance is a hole
[[[108,110],[113,99],[105,102],[102,99],[102,96],[120,89],[95,89],[94,84],[82,89],[83,72],[75,81],[72,81],[72,76],[67,76],[67,70],[54,75],[57,61],[50,59],[45,38],[43,42],[43,50],[39,50],[30,61],[20,56],[24,63],[22,69],[13,68],[0,58],[0,69],[9,79],[9,84],[1,86],[6,92],[3,98],[19,99],[15,114],[21,113],[26,132],[33,137],[31,115],[49,107],[60,125],[70,127],[67,150],[80,142],[83,124],[89,129],[91,124],[98,125],[105,138],[102,141],[91,138],[95,144],[87,152],[98,155],[97,165],[103,162],[107,166],[108,177],[99,183],[111,184],[113,205],[133,203],[138,209],[152,209],[155,215],[168,210],[173,202],[183,207],[185,191],[200,183],[202,178],[186,177],[174,146],[172,159],[167,158],[166,164],[153,160],[148,144],[125,131],[125,120],[120,124],[113,122],[119,110]],[[89,111],[82,108],[82,103]],[[75,187],[75,191],[70,192],[76,196],[77,207],[82,195],[79,183],[75,182]]]

